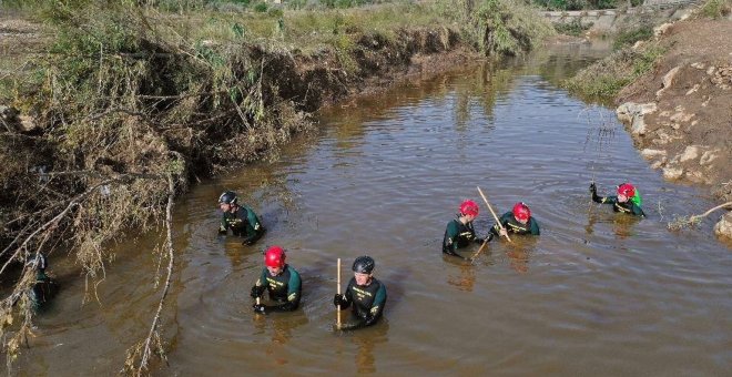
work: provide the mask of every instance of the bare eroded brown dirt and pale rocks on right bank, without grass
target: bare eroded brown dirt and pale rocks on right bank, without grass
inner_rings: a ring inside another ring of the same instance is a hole
[[[665,179],[732,201],[732,21],[684,20],[657,33],[668,50],[620,92],[618,116]]]

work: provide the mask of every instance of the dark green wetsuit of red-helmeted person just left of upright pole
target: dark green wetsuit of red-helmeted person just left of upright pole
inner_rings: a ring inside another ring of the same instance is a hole
[[[278,305],[265,305],[264,308],[267,312],[292,312],[299,306],[303,285],[299,274],[289,265],[285,265],[277,276],[273,276],[267,267],[264,267],[255,287],[261,289],[261,293],[266,289],[270,299],[279,303]]]

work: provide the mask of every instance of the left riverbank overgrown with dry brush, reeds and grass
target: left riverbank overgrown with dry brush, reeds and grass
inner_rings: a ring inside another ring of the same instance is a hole
[[[0,245],[28,277],[16,294],[32,282],[24,262],[34,252],[71,251],[101,278],[108,244],[163,223],[170,182],[180,193],[266,157],[313,130],[322,106],[518,54],[551,33],[510,1],[472,12],[451,1],[264,13],[70,7],[34,13],[43,28],[2,23],[28,27],[13,39],[38,35],[40,47],[27,63],[18,51],[1,65]],[[14,313],[10,300],[2,309]]]

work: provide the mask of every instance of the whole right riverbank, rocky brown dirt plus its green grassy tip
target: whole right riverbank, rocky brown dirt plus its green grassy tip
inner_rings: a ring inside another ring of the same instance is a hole
[[[722,203],[732,201],[730,9],[729,1],[710,1],[568,84],[577,92],[612,96],[619,120],[653,169],[667,180],[709,187]]]

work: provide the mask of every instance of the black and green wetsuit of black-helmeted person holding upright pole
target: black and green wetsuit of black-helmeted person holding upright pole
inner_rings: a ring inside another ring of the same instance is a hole
[[[382,318],[384,313],[386,286],[375,278],[372,278],[366,286],[358,285],[356,278],[352,277],[343,297],[340,308],[345,309],[353,304],[352,310],[357,320],[353,324],[344,324],[340,329],[372,326]]]

